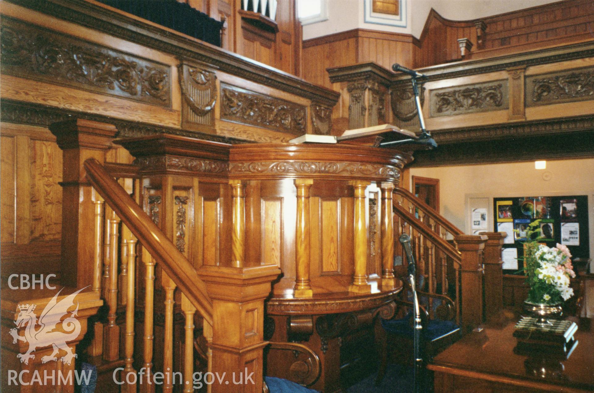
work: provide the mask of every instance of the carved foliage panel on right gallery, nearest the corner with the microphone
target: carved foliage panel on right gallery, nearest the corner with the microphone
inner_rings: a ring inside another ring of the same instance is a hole
[[[431,90],[429,103],[431,117],[500,111],[509,108],[508,81]]]

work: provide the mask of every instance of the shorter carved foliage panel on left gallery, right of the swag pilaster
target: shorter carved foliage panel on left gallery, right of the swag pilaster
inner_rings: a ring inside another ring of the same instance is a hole
[[[301,135],[307,129],[307,108],[241,87],[221,83],[222,120]]]

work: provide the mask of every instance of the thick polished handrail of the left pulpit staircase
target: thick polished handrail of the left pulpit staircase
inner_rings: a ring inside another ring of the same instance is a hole
[[[118,217],[140,240],[163,270],[175,282],[188,300],[210,325],[213,323],[213,302],[206,284],[200,279],[188,259],[157,227],[140,206],[128,195],[96,159],[84,162],[91,186],[103,197]]]

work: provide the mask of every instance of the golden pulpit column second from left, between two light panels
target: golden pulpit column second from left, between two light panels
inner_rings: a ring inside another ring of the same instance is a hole
[[[297,187],[297,222],[295,233],[295,297],[312,297],[309,285],[309,189],[314,184],[312,179],[296,179]]]

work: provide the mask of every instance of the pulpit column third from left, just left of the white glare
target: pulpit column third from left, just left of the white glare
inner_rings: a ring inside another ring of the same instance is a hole
[[[371,293],[367,282],[367,224],[365,219],[365,188],[369,181],[355,180],[350,185],[355,187],[355,275],[349,285],[349,292]]]

